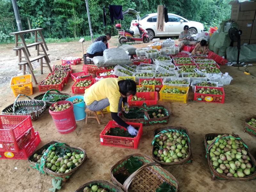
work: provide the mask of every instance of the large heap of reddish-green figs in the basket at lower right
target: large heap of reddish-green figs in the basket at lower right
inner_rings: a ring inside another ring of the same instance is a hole
[[[215,142],[210,149],[213,168],[229,177],[245,177],[254,173],[255,167],[243,142],[231,134],[218,139],[220,137],[222,135],[207,140],[208,145]]]

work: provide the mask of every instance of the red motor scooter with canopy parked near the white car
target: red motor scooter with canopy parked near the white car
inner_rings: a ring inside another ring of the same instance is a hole
[[[123,11],[123,15],[124,14],[132,14],[132,15],[136,15],[138,21],[140,20],[140,12],[135,11],[134,9],[126,9]],[[135,42],[135,41],[143,41],[143,43],[149,43],[149,36],[148,36],[148,32],[146,29],[142,28],[141,25],[139,24],[139,22],[136,22],[136,26],[138,27],[140,36],[134,36],[134,31],[129,31],[129,30],[124,30],[121,29],[121,24],[117,23],[116,24],[116,29],[118,30],[119,33],[119,37],[117,39],[117,41],[120,44],[125,44],[127,42]]]

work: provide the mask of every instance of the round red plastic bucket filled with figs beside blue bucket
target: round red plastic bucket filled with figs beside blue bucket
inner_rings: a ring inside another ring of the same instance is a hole
[[[76,120],[73,113],[73,103],[71,101],[58,101],[57,104],[66,104],[69,103],[71,105],[70,108],[67,108],[63,111],[54,112],[49,108],[49,113],[52,115],[52,119],[56,126],[56,129],[61,134],[66,134],[72,132],[76,129]],[[53,107],[55,103],[51,105]]]

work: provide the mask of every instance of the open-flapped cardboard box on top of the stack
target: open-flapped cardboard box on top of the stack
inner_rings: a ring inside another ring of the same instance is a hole
[[[239,3],[238,0],[230,1],[231,8],[231,19],[232,20],[254,20],[256,2],[246,1]]]

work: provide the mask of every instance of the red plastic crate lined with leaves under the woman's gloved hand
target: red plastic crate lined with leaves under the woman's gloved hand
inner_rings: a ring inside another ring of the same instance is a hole
[[[100,133],[100,145],[107,145],[107,146],[114,146],[114,147],[122,147],[122,148],[138,148],[141,135],[143,134],[142,131],[142,123],[133,123],[133,122],[126,122],[133,127],[139,127],[138,134],[134,138],[130,137],[118,137],[118,136],[111,136],[105,135],[110,128],[119,127],[120,129],[126,130],[126,128],[120,126],[115,121],[109,121],[106,127]]]

